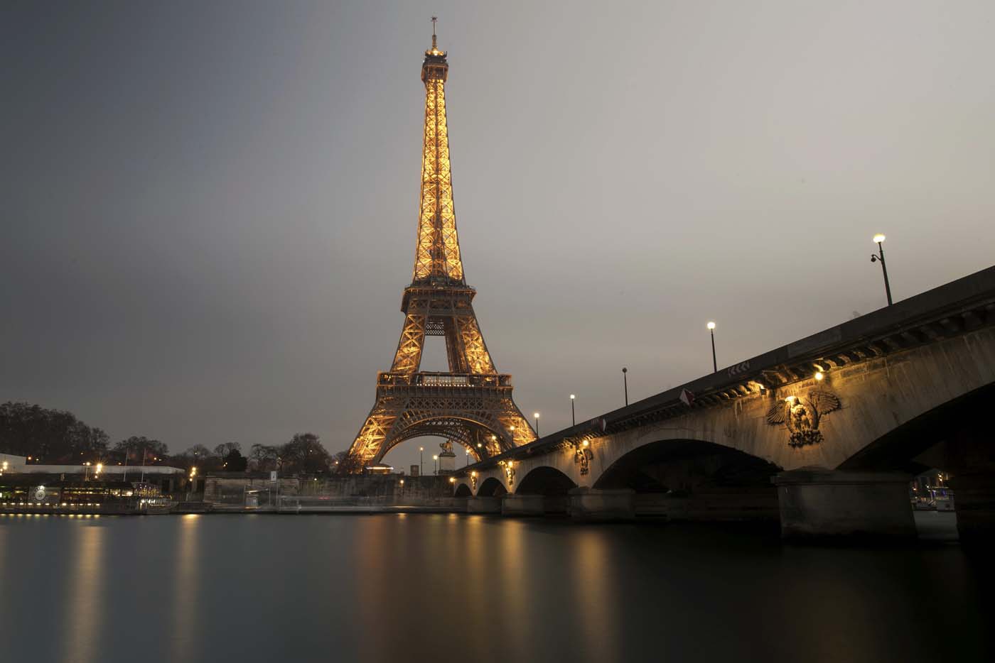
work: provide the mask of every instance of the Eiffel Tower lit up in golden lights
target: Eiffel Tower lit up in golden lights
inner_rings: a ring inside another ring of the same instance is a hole
[[[412,437],[443,437],[478,460],[535,439],[511,400],[511,376],[499,374],[481,334],[460,258],[446,128],[446,52],[425,52],[425,143],[418,245],[411,285],[404,289],[404,327],[390,371],[377,374],[376,403],[349,447],[341,470],[361,472]],[[449,372],[421,371],[426,336],[446,339]]]

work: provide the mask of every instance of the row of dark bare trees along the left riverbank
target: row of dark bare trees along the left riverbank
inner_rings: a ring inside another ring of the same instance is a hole
[[[0,453],[27,456],[32,463],[76,465],[84,462],[127,465],[171,465],[198,471],[244,472],[277,470],[281,473],[321,474],[334,469],[335,460],[317,435],[303,432],[284,444],[253,444],[243,455],[239,442],[208,448],[194,444],[170,454],[162,441],[133,435],[113,444],[102,429],[90,426],[75,414],[49,410],[28,403],[0,405]]]

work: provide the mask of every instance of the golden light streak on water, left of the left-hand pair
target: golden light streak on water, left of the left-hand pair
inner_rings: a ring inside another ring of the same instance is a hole
[[[66,607],[66,650],[64,661],[89,663],[99,660],[99,637],[104,614],[103,537],[106,530],[96,524],[79,523],[77,541],[70,547],[75,564],[70,566],[69,596]]]

